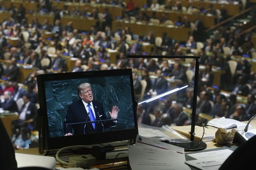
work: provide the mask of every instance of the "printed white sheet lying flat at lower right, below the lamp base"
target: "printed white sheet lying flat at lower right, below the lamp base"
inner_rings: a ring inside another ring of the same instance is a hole
[[[188,160],[185,163],[201,170],[218,170],[232,152],[230,149],[223,149],[187,154],[196,160]]]

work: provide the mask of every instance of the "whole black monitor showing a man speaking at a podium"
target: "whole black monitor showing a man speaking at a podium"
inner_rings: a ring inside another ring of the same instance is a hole
[[[39,152],[136,139],[132,69],[40,74],[37,81]]]

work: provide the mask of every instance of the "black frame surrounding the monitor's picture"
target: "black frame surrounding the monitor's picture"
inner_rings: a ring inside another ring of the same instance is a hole
[[[51,80],[66,80],[66,79],[79,79],[79,78],[95,78],[95,77],[109,77],[109,76],[129,76],[130,87],[132,95],[132,107],[134,113],[134,128],[120,129],[115,131],[104,131],[98,133],[90,133],[84,135],[72,135],[61,137],[50,137],[48,127],[48,114],[46,109],[46,93],[45,81]],[[75,145],[94,145],[100,143],[111,143],[116,141],[134,140],[138,134],[137,124],[137,102],[134,97],[134,87],[132,79],[132,69],[118,69],[118,70],[97,70],[86,72],[66,72],[66,73],[53,73],[53,74],[40,74],[37,76],[38,82],[38,96],[39,105],[39,153],[44,154],[46,150],[60,149],[68,146]]]

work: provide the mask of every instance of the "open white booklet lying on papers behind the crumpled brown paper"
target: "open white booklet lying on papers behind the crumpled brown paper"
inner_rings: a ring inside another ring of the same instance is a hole
[[[214,126],[217,128],[221,127],[221,128],[230,129],[230,128],[234,128],[234,127],[235,128],[245,127],[246,123],[240,122],[235,119],[220,117],[220,118],[214,118],[214,119],[208,121],[207,125]]]

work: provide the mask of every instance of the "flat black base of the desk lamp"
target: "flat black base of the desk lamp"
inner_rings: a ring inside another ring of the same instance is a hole
[[[182,142],[172,142],[172,141],[162,141],[165,143],[169,143],[171,145],[176,145],[178,147],[184,148],[185,152],[190,152],[190,151],[199,151],[199,150],[204,150],[206,149],[207,145],[203,141],[190,141],[187,143],[182,143]]]

